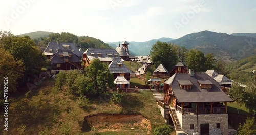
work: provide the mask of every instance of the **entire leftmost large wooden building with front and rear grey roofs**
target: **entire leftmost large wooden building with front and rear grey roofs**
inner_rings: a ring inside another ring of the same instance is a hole
[[[50,42],[43,54],[50,60],[51,71],[81,69],[82,52],[73,43]]]

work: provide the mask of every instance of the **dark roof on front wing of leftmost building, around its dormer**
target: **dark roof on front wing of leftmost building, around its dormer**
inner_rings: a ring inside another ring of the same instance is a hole
[[[51,64],[60,64],[65,63],[64,57],[59,57],[59,55],[68,55],[71,54],[71,57],[69,58],[70,62],[74,63],[82,63],[78,56],[76,56],[71,50],[58,50],[58,52],[51,58],[50,62]]]

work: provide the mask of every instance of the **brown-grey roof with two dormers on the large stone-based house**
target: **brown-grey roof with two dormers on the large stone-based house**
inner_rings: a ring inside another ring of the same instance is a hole
[[[192,89],[180,89],[178,80],[190,80],[193,84]],[[198,80],[209,80],[212,83],[212,88],[202,89]],[[219,83],[206,73],[194,73],[192,77],[189,73],[175,73],[164,83],[172,87],[173,94],[179,103],[233,102],[233,100],[222,91]]]

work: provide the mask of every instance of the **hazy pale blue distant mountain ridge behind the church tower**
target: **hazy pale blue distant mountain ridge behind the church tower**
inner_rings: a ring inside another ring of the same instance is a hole
[[[136,56],[141,56],[141,55],[149,55],[150,54],[150,50],[153,46],[153,44],[155,44],[157,41],[161,41],[161,42],[168,42],[174,40],[173,38],[168,38],[168,37],[162,37],[159,39],[152,39],[149,41],[145,41],[145,42],[135,42],[135,41],[127,41],[129,42],[129,52],[133,55]],[[123,41],[122,41],[123,42]],[[120,42],[120,44],[122,43]],[[119,44],[119,42],[108,42],[108,44],[113,47],[116,48]]]

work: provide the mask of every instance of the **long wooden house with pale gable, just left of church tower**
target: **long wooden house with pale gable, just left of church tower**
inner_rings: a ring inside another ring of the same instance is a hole
[[[88,48],[83,53],[82,61],[84,61],[84,66],[89,66],[90,62],[94,59],[99,59],[105,65],[109,65],[113,61],[113,58],[121,58],[115,49]]]

